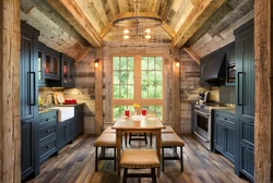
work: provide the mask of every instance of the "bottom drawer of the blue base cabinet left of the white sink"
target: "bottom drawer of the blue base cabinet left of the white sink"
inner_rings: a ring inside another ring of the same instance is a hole
[[[57,151],[56,136],[39,145],[39,161],[43,162],[46,158]]]

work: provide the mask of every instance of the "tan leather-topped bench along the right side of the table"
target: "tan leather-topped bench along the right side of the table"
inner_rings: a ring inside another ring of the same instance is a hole
[[[179,160],[181,164],[181,171],[183,171],[183,154],[182,147],[185,146],[183,142],[177,136],[176,133],[164,133],[162,134],[162,171],[164,172],[164,160]],[[180,158],[177,154],[177,147],[180,147]],[[165,157],[164,149],[174,148],[173,157]]]

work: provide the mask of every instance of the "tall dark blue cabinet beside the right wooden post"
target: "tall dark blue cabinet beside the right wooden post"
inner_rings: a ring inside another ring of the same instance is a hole
[[[235,172],[253,181],[254,157],[254,42],[253,20],[235,30],[236,163]]]

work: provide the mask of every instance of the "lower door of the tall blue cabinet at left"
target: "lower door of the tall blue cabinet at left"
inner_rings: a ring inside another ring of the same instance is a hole
[[[34,172],[33,122],[21,122],[22,180]]]

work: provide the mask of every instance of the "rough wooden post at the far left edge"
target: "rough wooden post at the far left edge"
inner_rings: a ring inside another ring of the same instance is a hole
[[[21,182],[20,1],[0,12],[0,182]]]

